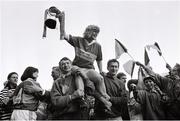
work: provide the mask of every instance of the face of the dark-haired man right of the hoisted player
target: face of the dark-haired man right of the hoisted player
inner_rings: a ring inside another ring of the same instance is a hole
[[[115,76],[119,70],[118,63],[111,62],[107,69],[112,76]]]

